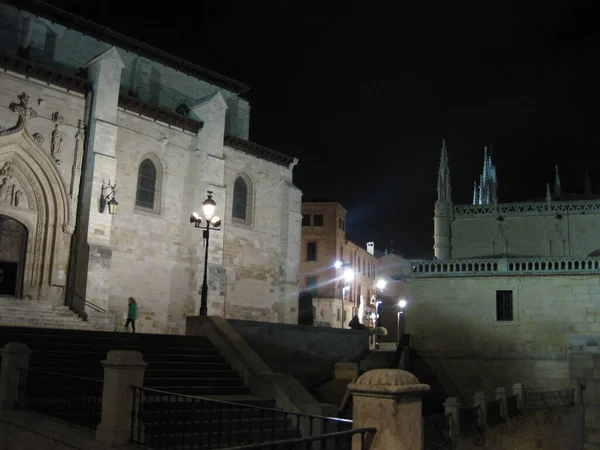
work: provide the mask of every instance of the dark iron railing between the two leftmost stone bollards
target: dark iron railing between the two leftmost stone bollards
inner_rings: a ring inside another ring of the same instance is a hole
[[[102,415],[102,380],[19,369],[19,409],[96,429]]]

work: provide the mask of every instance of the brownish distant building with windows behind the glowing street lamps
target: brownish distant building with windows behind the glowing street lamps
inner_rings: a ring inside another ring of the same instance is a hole
[[[373,323],[379,262],[374,246],[368,248],[346,239],[346,210],[339,203],[302,203],[300,283],[313,297],[317,325],[348,328],[353,315],[365,325]],[[343,277],[346,269],[354,272],[349,282]]]

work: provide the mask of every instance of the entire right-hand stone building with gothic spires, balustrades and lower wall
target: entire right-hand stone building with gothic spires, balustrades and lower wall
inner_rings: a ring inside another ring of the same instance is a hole
[[[564,388],[567,336],[600,331],[600,197],[564,194],[557,170],[545,198],[501,203],[486,154],[473,204],[455,205],[448,156],[444,144],[436,257],[412,261],[406,331],[465,395],[515,382]]]

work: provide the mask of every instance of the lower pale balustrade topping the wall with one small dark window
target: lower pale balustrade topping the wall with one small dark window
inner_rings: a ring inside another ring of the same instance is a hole
[[[548,275],[600,272],[600,258],[501,258],[413,261],[411,277]]]

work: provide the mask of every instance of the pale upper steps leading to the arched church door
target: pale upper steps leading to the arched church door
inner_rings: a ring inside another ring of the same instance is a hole
[[[90,325],[68,306],[40,300],[0,297],[0,326],[89,329]]]

